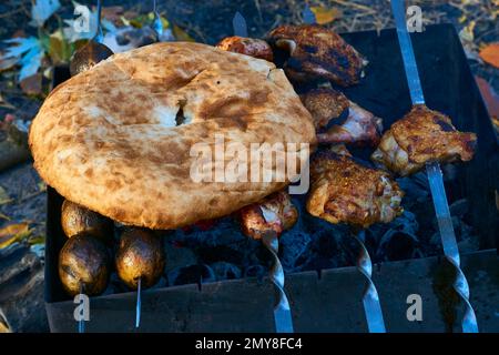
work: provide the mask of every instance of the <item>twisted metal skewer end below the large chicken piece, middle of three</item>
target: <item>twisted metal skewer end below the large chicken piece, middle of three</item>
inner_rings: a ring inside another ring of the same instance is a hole
[[[373,282],[373,263],[370,261],[369,252],[364,244],[366,233],[360,231],[358,234],[353,234],[357,241],[360,251],[357,255],[357,270],[366,277],[367,284],[363,294],[364,313],[366,315],[367,328],[369,333],[386,333],[385,321],[383,318],[381,304],[379,303],[379,295]]]

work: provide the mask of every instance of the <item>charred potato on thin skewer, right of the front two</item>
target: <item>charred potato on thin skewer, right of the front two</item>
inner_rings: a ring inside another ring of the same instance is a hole
[[[119,277],[132,290],[153,286],[163,274],[165,254],[161,239],[151,231],[130,229],[123,232],[115,256]]]

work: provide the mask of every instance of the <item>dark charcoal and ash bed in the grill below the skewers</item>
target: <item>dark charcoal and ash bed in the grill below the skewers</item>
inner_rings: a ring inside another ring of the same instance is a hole
[[[401,178],[397,182],[406,193],[403,199],[404,213],[391,223],[373,225],[364,234],[373,262],[441,254],[426,174]],[[459,248],[464,252],[478,250],[478,235],[466,222],[467,200],[452,200],[452,191],[447,193]],[[299,211],[299,219],[279,239],[279,258],[285,273],[355,265],[358,250],[353,243],[353,230],[348,225],[334,225],[308,214],[305,210],[306,195],[292,199]],[[269,253],[259,241],[241,233],[234,216],[213,221],[213,225],[190,226],[167,231],[163,235],[169,260],[163,284],[262,278],[267,274]]]

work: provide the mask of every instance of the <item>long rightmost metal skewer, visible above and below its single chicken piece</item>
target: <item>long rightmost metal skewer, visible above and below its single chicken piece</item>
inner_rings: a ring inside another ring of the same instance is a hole
[[[414,55],[413,42],[410,40],[409,32],[407,31],[404,0],[391,0],[391,9],[397,26],[397,36],[404,59],[410,99],[413,104],[424,104],[425,97],[422,94],[416,58]],[[477,317],[475,316],[473,308],[469,303],[468,282],[466,281],[465,274],[459,266],[459,248],[456,242],[456,235],[454,233],[452,220],[450,217],[449,205],[447,203],[440,164],[438,162],[428,162],[426,164],[426,173],[434,200],[440,237],[444,245],[444,254],[446,258],[456,267],[457,272],[452,286],[466,305],[465,316],[461,322],[462,332],[478,333]]]

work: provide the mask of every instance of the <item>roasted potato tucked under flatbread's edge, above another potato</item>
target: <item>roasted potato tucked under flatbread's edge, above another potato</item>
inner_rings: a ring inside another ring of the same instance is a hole
[[[111,220],[69,200],[62,203],[61,226],[68,237],[80,233],[88,233],[103,242],[108,242],[112,239],[113,234],[113,223]]]

